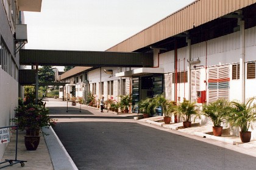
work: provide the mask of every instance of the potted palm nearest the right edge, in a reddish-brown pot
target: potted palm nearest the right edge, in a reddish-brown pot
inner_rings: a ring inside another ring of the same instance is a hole
[[[246,103],[231,102],[231,109],[226,119],[230,126],[240,127],[240,138],[243,143],[251,140],[249,127],[256,120],[256,97],[249,98]]]

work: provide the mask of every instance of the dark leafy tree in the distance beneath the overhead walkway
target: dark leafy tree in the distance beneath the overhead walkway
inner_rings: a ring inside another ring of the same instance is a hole
[[[54,82],[55,72],[52,70],[52,66],[43,66],[38,69],[38,81],[40,83]]]

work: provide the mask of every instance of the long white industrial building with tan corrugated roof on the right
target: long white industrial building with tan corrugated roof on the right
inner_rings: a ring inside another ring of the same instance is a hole
[[[154,53],[154,67],[90,69],[82,87],[96,98],[132,94],[133,112],[138,101],[163,92],[177,103],[186,98],[199,105],[255,97],[255,7],[256,1],[194,1],[107,50]],[[77,94],[80,88],[77,82]]]

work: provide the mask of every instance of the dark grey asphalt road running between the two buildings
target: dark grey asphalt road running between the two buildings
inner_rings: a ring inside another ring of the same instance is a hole
[[[256,158],[249,155],[143,126],[129,118],[83,112],[77,116],[87,121],[60,121],[54,127],[79,169],[244,170],[256,167]]]

